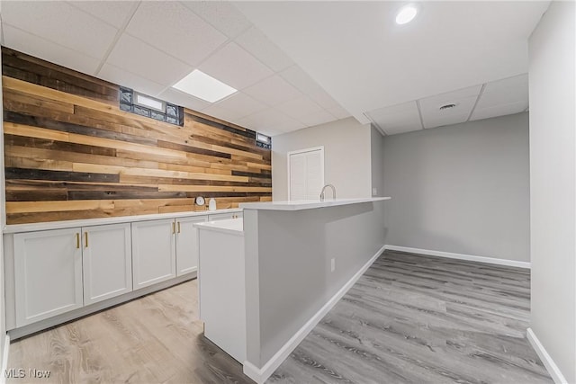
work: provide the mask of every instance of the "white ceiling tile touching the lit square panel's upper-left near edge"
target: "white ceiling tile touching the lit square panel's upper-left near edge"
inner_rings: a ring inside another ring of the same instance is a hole
[[[192,67],[126,33],[112,49],[108,63],[166,86],[192,71]]]

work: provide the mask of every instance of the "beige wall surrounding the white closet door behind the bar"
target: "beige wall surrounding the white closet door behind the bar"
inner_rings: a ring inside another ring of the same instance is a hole
[[[348,118],[272,139],[273,200],[288,200],[286,154],[320,146],[324,146],[324,181],[334,184],[338,198],[371,196],[370,125]],[[318,194],[320,196],[320,191]],[[331,192],[327,194],[330,196]]]

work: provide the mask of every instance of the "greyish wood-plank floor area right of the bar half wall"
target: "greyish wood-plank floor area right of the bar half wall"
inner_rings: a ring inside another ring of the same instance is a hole
[[[267,382],[552,383],[529,317],[527,270],[386,251]]]

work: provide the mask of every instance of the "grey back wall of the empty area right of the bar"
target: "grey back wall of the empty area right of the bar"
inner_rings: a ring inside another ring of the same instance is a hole
[[[528,115],[383,139],[386,244],[530,261]]]

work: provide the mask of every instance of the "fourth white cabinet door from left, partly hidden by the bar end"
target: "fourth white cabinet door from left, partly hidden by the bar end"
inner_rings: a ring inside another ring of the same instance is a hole
[[[205,216],[176,219],[176,269],[177,275],[198,270],[198,230],[194,223],[206,221]]]

